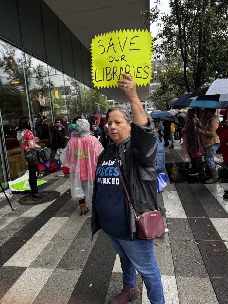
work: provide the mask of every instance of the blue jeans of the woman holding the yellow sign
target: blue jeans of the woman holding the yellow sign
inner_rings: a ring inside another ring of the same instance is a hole
[[[152,304],[164,304],[161,275],[154,256],[154,240],[119,240],[110,237],[112,245],[119,254],[123,271],[123,284],[134,288],[136,271],[143,278],[147,296]]]

